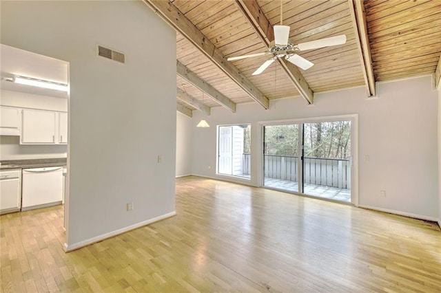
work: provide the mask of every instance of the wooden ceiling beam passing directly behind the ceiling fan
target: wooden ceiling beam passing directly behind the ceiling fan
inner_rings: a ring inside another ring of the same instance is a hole
[[[271,23],[269,23],[265,14],[260,10],[258,3],[254,0],[236,0],[236,4],[239,10],[248,19],[259,38],[269,47],[269,43],[274,41],[274,31]],[[283,58],[278,58],[278,63],[288,74],[300,95],[305,98],[309,104],[312,104],[314,102],[314,93],[296,65],[289,63]]]

